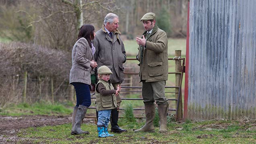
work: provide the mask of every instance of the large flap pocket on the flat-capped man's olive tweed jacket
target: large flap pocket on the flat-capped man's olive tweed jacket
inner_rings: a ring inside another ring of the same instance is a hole
[[[161,76],[163,75],[163,62],[148,62],[149,76]]]

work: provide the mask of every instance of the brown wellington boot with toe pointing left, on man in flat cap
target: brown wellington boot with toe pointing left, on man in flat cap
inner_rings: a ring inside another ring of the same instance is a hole
[[[146,114],[146,123],[139,130],[135,130],[134,132],[155,132],[155,127],[153,124],[153,120],[155,118],[155,105],[145,103],[145,114]]]

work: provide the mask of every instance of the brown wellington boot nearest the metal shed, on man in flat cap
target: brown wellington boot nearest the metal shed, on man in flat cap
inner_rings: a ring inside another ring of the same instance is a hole
[[[158,114],[159,114],[159,132],[166,133],[167,132],[167,104],[158,105]]]

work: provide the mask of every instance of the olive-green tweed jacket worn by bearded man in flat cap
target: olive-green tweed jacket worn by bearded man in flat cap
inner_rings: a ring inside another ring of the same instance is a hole
[[[146,37],[147,31],[142,35]],[[142,49],[144,52],[142,53]],[[140,81],[157,82],[168,78],[168,39],[157,25],[146,39],[146,47],[139,45],[137,60],[140,62]]]

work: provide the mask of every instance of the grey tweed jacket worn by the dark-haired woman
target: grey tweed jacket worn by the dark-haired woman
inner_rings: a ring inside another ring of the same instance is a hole
[[[93,53],[87,40],[82,37],[76,41],[72,49],[72,68],[69,75],[69,83],[82,82],[91,84],[91,60]]]

